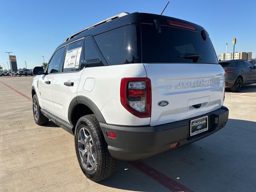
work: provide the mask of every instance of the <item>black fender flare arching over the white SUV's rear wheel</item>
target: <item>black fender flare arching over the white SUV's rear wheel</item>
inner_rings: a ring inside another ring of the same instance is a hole
[[[88,108],[90,108],[90,110],[92,110],[92,112],[95,114],[98,122],[101,123],[106,123],[104,117],[102,116],[100,110],[98,109],[98,107],[94,104],[94,102],[92,102],[92,100],[90,100],[89,98],[85,97],[85,96],[76,96],[75,98],[73,98],[70,102],[70,105],[68,107],[68,121],[70,122],[71,125],[72,124],[72,113],[74,108],[76,107],[76,105],[78,104],[84,104],[86,105]],[[73,125],[74,126],[74,125]]]

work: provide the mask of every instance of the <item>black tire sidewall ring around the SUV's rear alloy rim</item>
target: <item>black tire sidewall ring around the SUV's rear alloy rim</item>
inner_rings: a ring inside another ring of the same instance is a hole
[[[86,168],[84,168],[84,165],[82,164],[82,162],[80,160],[80,154],[79,154],[79,151],[78,151],[78,144],[77,144],[78,133],[80,132],[80,129],[83,128],[83,127],[87,128],[88,132],[90,133],[90,136],[92,137],[92,141],[94,143],[94,148],[95,148],[96,161],[94,162],[94,164],[95,164],[94,169],[91,170],[91,171],[86,170]],[[76,157],[77,157],[79,166],[82,169],[82,172],[85,174],[85,176],[87,176],[88,178],[97,177],[97,175],[99,174],[98,170],[99,170],[99,166],[100,166],[100,150],[99,150],[99,146],[98,146],[98,141],[96,139],[96,135],[94,134],[94,131],[92,130],[90,125],[87,124],[85,118],[82,121],[78,121],[77,124],[76,124],[75,150],[76,150]]]

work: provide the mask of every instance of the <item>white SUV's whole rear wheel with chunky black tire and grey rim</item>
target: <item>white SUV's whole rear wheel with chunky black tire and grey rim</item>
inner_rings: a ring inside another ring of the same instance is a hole
[[[94,114],[82,116],[78,120],[74,141],[76,157],[86,177],[99,182],[113,174],[117,159],[108,152],[107,143]]]

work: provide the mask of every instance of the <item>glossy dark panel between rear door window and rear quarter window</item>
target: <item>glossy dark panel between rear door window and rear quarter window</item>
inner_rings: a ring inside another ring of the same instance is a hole
[[[84,56],[86,67],[108,65],[91,35],[84,39]]]

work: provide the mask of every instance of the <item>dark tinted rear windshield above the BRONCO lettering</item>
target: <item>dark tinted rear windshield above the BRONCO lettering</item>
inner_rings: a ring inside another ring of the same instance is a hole
[[[182,28],[161,26],[157,33],[154,25],[142,24],[143,63],[205,63],[218,64],[210,38],[203,40],[201,33]],[[198,60],[186,55],[200,55]]]

